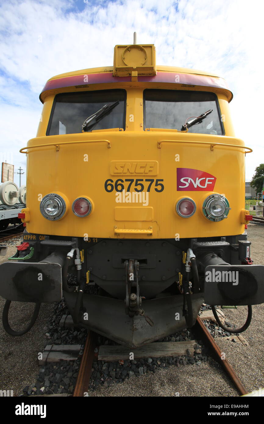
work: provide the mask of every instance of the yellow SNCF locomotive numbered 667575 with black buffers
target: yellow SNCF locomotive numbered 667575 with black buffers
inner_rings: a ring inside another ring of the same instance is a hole
[[[136,42],[114,47],[112,67],[47,81],[20,150],[24,241],[0,265],[7,332],[11,301],[36,304],[27,331],[62,296],[75,325],[129,347],[192,327],[204,301],[247,305],[247,328],[264,266],[245,231],[252,149],[235,137],[232,97],[224,79],[157,66],[154,45]]]

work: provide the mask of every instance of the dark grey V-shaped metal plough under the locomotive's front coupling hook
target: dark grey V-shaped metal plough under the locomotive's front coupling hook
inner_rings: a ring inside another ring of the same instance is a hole
[[[64,293],[64,298],[73,316],[76,293]],[[203,296],[192,295],[193,324],[202,303]],[[145,315],[153,321],[153,326],[144,316],[125,315],[122,300],[84,294],[83,306],[86,309],[86,314],[81,318],[83,326],[128,347],[142,346],[186,328],[181,295],[142,302]]]

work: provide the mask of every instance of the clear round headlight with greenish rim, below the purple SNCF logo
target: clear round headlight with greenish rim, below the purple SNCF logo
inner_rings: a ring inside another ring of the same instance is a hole
[[[203,202],[203,214],[210,221],[222,221],[230,209],[228,200],[220,194],[211,194]]]

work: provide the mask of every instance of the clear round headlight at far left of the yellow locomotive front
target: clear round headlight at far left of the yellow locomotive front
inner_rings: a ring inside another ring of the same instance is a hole
[[[50,193],[44,196],[39,207],[44,218],[50,221],[62,218],[66,212],[64,199],[56,193]]]

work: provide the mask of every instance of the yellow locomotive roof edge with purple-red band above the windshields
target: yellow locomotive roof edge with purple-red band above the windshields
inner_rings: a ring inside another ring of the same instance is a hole
[[[86,79],[84,78],[86,77]],[[88,79],[88,81],[87,81]],[[113,67],[98,67],[82,69],[55,75],[45,84],[39,98],[44,103],[44,98],[51,90],[75,87],[77,89],[86,88],[92,84],[109,84],[117,82],[131,83],[131,76],[113,76]],[[218,75],[188,68],[171,66],[157,66],[157,75],[139,75],[138,83],[172,83],[179,87],[213,87],[217,92],[223,92],[228,101],[233,98],[232,92],[223,78]],[[133,81],[133,85],[135,82]],[[212,91],[212,90],[210,90]]]

